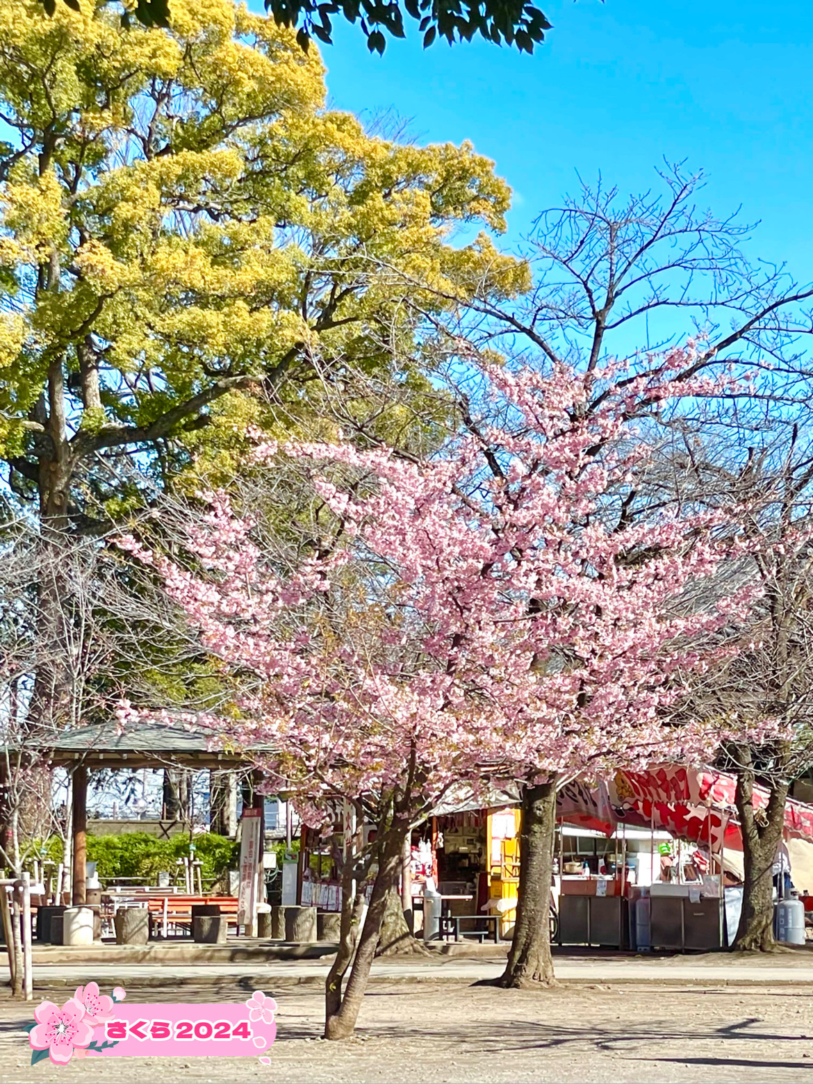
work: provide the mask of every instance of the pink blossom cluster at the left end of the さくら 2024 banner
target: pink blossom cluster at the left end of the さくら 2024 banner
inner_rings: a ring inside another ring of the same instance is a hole
[[[113,997],[108,997],[100,994],[98,983],[89,982],[79,986],[62,1008],[53,1002],[42,1002],[34,1010],[35,1022],[26,1028],[31,1064],[50,1058],[54,1064],[65,1066],[72,1058],[85,1058],[91,1051],[115,1046],[94,1040],[93,1028],[113,1020],[114,1004],[125,997],[121,986],[116,986]]]

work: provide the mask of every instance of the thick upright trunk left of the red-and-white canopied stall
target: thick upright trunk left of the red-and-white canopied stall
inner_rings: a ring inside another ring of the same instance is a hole
[[[522,791],[517,920],[501,986],[553,986],[551,879],[556,827],[556,779]]]

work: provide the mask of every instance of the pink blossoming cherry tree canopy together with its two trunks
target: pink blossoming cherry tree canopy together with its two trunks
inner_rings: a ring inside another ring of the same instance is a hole
[[[206,725],[278,750],[269,785],[313,820],[338,798],[375,805],[378,874],[344,994],[344,972],[328,980],[327,1037],[353,1029],[405,834],[450,786],[519,784],[504,983],[550,983],[557,782],[700,760],[728,736],[724,720],[669,724],[683,675],[732,649],[751,603],[749,588],[693,595],[739,553],[736,509],[650,500],[651,434],[630,422],[719,393],[673,379],[688,363],[673,351],[623,383],[487,366],[479,420],[425,462],[260,444],[256,465],[304,468],[317,502],[296,553],[224,494],[186,527],[185,562],[122,542],[241,679],[232,721]]]

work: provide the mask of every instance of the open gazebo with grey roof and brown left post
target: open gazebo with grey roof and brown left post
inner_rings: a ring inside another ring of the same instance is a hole
[[[253,750],[257,752],[259,750]],[[66,731],[49,744],[48,760],[72,776],[72,902],[86,903],[88,825],[88,776],[93,771],[138,769],[186,769],[192,771],[240,771],[250,769],[245,751],[228,748],[222,740],[178,723],[139,723],[116,727],[99,723]],[[263,798],[253,789],[253,808],[262,811]],[[260,813],[262,816],[262,813]]]

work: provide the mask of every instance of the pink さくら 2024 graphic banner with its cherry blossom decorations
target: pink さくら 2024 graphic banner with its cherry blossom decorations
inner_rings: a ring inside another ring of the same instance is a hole
[[[276,1003],[260,990],[236,1004],[122,1005],[126,996],[120,986],[108,996],[89,982],[62,1005],[42,1002],[25,1029],[31,1064],[46,1058],[64,1066],[88,1057],[256,1057],[276,1037]]]

